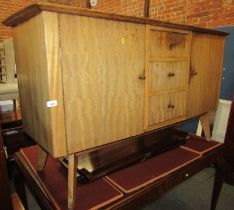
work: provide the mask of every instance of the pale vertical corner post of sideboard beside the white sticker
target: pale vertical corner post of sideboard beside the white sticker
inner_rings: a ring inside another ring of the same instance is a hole
[[[52,12],[42,12],[42,15],[46,36],[46,73],[48,74],[49,86],[47,100],[56,100],[58,103],[58,106],[49,108],[53,152],[54,156],[58,157],[67,154],[58,15]],[[46,109],[48,108],[46,107]]]

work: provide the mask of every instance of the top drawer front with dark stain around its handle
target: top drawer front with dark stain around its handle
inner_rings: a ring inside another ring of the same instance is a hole
[[[191,35],[150,29],[149,56],[155,58],[181,58],[190,55]]]

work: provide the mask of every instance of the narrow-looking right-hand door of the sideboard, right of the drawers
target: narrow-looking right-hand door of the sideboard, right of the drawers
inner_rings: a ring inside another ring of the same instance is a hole
[[[224,38],[194,33],[192,39],[188,116],[215,110],[223,64]]]

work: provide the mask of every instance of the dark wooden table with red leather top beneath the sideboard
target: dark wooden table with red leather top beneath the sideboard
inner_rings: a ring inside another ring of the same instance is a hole
[[[38,172],[37,153],[37,146],[32,146],[15,154],[18,193],[25,196],[25,183],[42,209],[66,209],[66,169],[59,160],[49,157],[44,171]],[[120,169],[94,182],[78,184],[75,209],[143,207],[190,176],[218,163],[222,156],[221,143],[207,142],[190,135],[184,146]]]

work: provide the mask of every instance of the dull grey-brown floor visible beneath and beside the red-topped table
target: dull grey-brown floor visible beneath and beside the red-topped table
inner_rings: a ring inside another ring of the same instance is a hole
[[[164,194],[142,210],[209,210],[214,169],[207,168]],[[40,210],[27,191],[30,210]],[[234,186],[224,184],[217,210],[233,210]]]

